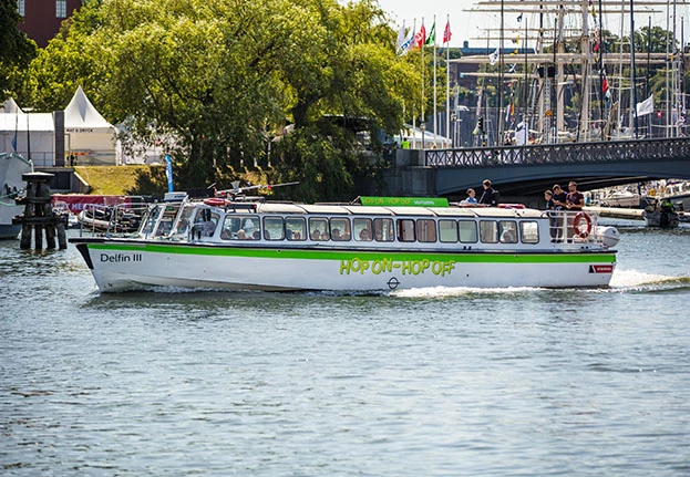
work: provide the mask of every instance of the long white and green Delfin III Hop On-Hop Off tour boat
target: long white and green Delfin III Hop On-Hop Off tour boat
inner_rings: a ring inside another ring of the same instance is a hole
[[[305,205],[169,195],[135,234],[70,239],[102,292],[607,287],[616,267],[618,231],[585,212],[443,198]]]

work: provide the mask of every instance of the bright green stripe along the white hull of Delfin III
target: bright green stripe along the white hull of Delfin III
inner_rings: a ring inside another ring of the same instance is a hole
[[[212,257],[245,257],[267,259],[299,259],[299,260],[385,260],[394,257],[395,260],[453,260],[461,263],[615,263],[616,255],[610,252],[522,252],[506,251],[504,253],[466,251],[466,252],[424,252],[424,251],[379,251],[379,250],[299,250],[299,249],[258,249],[244,247],[203,247],[203,246],[173,246],[173,245],[126,245],[126,243],[89,243],[93,250],[133,251],[148,253],[212,256]]]

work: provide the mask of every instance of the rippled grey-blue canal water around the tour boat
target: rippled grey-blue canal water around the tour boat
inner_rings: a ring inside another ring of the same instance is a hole
[[[101,295],[0,242],[2,476],[690,475],[690,227],[600,290]]]

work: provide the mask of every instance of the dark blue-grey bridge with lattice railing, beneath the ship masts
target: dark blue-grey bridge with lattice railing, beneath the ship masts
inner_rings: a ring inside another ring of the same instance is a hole
[[[690,138],[653,138],[463,149],[426,149],[418,169],[429,195],[463,198],[490,178],[502,198],[538,197],[575,180],[590,190],[655,179],[690,179]],[[410,180],[408,180],[410,183]],[[418,180],[420,183],[420,180]]]

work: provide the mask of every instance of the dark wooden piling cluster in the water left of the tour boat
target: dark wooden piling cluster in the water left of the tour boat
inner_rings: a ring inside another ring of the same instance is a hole
[[[55,236],[60,249],[68,248],[64,232],[64,221],[53,212],[51,205],[50,186],[48,183],[53,178],[48,173],[28,173],[21,176],[27,183],[27,196],[17,199],[18,204],[24,205],[24,212],[12,218],[12,224],[21,224],[21,240],[19,247],[31,248],[33,235],[33,248],[43,248],[43,231],[45,231],[45,248],[55,248]]]

